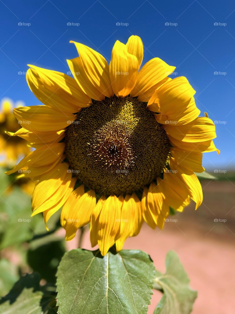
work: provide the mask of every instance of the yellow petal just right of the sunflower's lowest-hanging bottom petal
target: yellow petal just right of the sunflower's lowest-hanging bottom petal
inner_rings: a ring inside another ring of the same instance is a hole
[[[127,194],[121,209],[120,237],[116,241],[117,251],[121,251],[128,236],[137,236],[142,222],[140,200],[135,193]]]

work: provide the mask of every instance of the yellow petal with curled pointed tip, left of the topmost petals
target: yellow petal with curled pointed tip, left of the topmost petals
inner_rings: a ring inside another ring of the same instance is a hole
[[[81,76],[79,74],[79,78],[83,88],[85,86],[85,88],[92,90],[95,87],[99,91],[98,98],[100,94],[112,97],[114,93],[109,77],[109,65],[106,59],[90,47],[75,41],[70,42],[75,44],[79,53],[81,61],[79,68]]]

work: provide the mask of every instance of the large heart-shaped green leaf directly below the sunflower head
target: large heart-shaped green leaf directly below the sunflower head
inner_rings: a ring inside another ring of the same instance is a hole
[[[144,314],[150,304],[154,266],[138,250],[82,249],[65,253],[57,272],[59,314]]]

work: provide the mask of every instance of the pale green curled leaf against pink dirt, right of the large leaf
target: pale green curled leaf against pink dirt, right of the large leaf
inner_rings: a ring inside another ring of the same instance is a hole
[[[191,313],[197,292],[191,290],[189,282],[190,280],[177,254],[173,251],[168,252],[166,255],[166,273],[162,274],[156,271],[156,278],[154,279],[154,283],[164,291],[154,314]]]

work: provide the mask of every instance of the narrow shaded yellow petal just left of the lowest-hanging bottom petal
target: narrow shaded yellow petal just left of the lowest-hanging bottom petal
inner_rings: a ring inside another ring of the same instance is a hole
[[[90,240],[92,247],[98,244],[99,217],[105,201],[106,197],[102,195],[101,198],[98,200],[96,207],[91,213]]]

